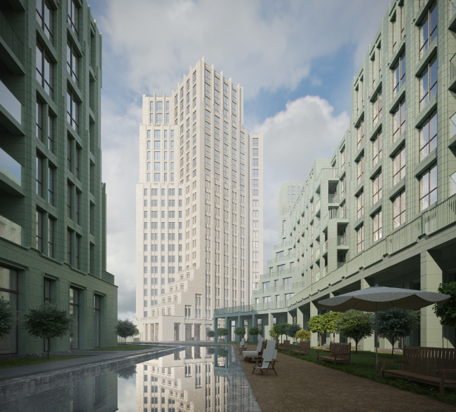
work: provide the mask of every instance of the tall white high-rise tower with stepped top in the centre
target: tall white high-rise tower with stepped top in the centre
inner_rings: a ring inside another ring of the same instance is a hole
[[[263,266],[262,166],[262,134],[243,128],[243,88],[204,59],[170,96],[142,96],[142,341],[206,340],[216,308],[250,303]]]

